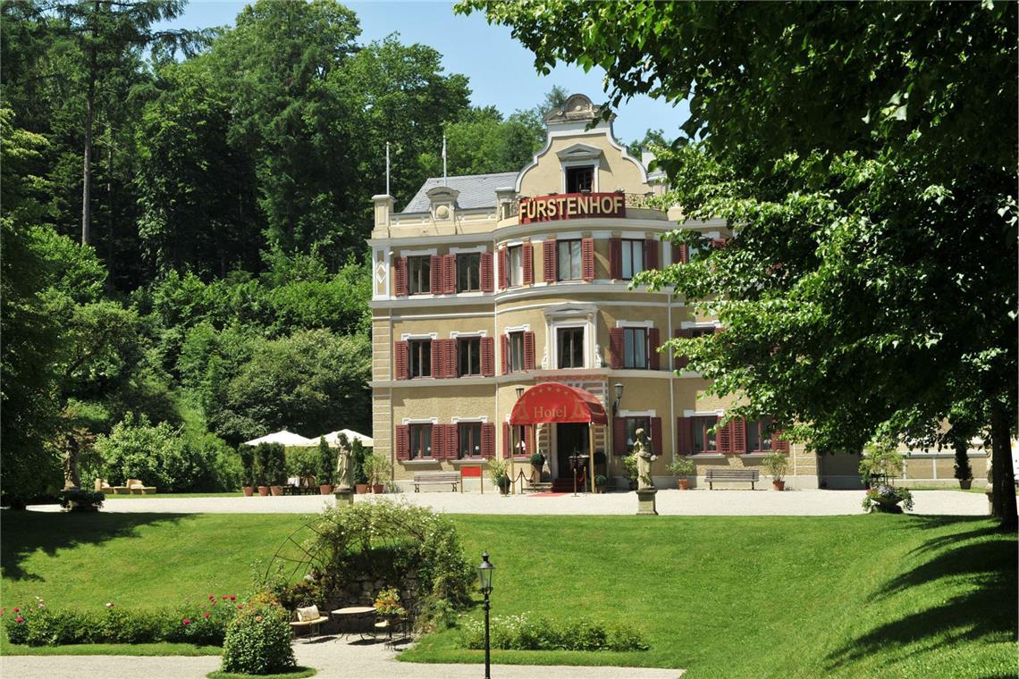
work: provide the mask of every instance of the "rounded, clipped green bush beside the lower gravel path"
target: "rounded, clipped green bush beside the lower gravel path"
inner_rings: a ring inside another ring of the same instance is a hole
[[[226,628],[223,671],[274,674],[297,667],[286,611],[278,604],[253,603]]]

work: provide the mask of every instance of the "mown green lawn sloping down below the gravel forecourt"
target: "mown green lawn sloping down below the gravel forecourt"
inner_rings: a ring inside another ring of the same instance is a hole
[[[689,677],[1014,677],[1016,539],[978,518],[453,516],[497,570],[493,614],[626,621],[643,653],[498,663],[688,668]],[[140,606],[244,591],[294,515],[3,512],[4,606]],[[480,615],[479,610],[469,615]],[[457,632],[403,656],[481,662]]]

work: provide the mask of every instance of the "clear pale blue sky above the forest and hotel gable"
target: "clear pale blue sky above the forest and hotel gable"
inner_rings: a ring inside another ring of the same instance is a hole
[[[296,1],[296,0],[293,0]],[[232,25],[245,2],[190,2],[174,27]],[[438,50],[447,72],[471,79],[472,103],[494,105],[504,114],[533,108],[553,84],[583,93],[595,103],[604,100],[604,72],[585,73],[576,66],[559,65],[549,75],[534,69],[534,57],[503,26],[488,25],[483,14],[453,14],[444,2],[344,2],[361,20],[361,42],[381,40],[398,33],[404,43],[422,43]],[[624,143],[644,136],[647,129],[663,129],[665,138],[678,136],[686,120],[686,103],[673,107],[662,101],[635,97],[616,110],[615,135]]]

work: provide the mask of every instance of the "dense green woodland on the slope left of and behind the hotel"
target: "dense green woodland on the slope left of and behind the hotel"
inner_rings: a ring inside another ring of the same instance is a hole
[[[332,0],[158,30],[183,6],[2,7],[4,504],[62,487],[68,446],[86,487],[218,491],[245,440],[370,433],[386,143],[398,209],[443,135],[450,175],[518,170],[568,94],[472,107],[436,50],[362,44]]]

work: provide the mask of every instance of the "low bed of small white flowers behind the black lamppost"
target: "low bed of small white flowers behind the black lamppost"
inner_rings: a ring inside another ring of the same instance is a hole
[[[489,631],[491,647],[513,650],[647,650],[640,634],[625,625],[605,625],[579,619],[567,623],[522,615],[494,616]],[[485,623],[464,624],[461,643],[466,648],[485,647]]]

